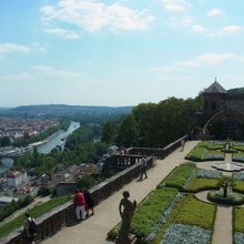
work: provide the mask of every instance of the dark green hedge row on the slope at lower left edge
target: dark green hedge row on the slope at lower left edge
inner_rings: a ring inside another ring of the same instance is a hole
[[[28,206],[32,202],[32,197],[30,195],[20,197],[18,201],[12,201],[11,203],[6,204],[3,207],[0,209],[0,221],[4,220],[6,217],[10,216],[16,211]]]

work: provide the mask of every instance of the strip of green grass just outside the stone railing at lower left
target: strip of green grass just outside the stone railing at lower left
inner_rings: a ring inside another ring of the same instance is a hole
[[[50,200],[49,202],[33,206],[28,212],[30,213],[31,216],[33,216],[34,218],[38,218],[42,216],[43,214],[48,213],[49,211],[51,211],[52,209],[60,206],[61,204],[68,202],[69,200],[70,200],[69,196],[54,197]],[[3,237],[8,235],[9,233],[16,231],[17,228],[23,226],[23,223],[24,223],[24,217],[23,217],[23,214],[21,214],[14,220],[0,226],[0,237]]]

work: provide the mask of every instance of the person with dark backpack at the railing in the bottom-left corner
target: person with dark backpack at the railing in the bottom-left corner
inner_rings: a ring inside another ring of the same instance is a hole
[[[29,213],[24,214],[26,221],[23,224],[23,231],[28,243],[34,244],[37,235],[37,224],[33,217]]]

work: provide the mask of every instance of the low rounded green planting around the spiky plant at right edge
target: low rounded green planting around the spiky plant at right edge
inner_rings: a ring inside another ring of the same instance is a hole
[[[224,196],[223,191],[212,191],[207,193],[207,200],[214,203],[226,204],[226,205],[241,205],[244,203],[244,196],[238,193],[230,193]]]

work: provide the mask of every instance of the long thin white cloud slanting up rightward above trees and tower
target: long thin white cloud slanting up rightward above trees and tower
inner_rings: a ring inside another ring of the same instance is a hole
[[[152,67],[151,71],[179,71],[183,68],[196,68],[205,65],[220,65],[225,61],[237,58],[234,53],[203,53],[192,60],[179,61],[169,67]]]

